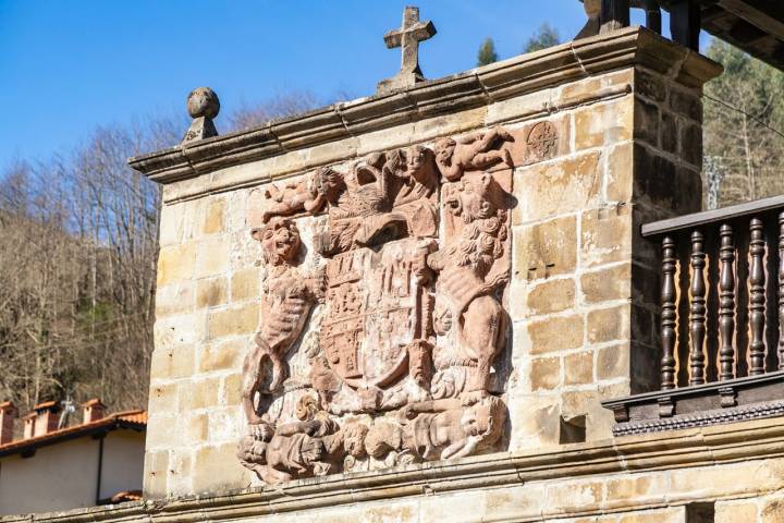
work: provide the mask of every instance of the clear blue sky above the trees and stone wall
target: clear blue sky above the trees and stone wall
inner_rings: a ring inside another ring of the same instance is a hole
[[[223,114],[292,89],[324,100],[370,95],[399,69],[400,52],[382,36],[407,3],[0,0],[0,167],[66,153],[98,125],[184,114],[187,93],[201,85],[218,93]],[[577,0],[418,5],[438,29],[420,48],[429,78],[475,66],[488,36],[509,58],[543,22],[567,40],[585,20]]]

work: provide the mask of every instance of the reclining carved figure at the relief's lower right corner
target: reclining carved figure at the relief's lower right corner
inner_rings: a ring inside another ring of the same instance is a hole
[[[424,460],[464,458],[501,436],[505,408],[490,396],[469,406],[460,400],[412,403],[401,411],[403,448]]]

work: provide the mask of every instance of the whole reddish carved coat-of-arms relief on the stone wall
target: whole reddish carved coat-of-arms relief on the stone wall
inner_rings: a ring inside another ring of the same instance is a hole
[[[553,132],[531,144],[551,147]],[[498,445],[516,205],[505,144],[525,148],[530,133],[494,127],[375,153],[267,188],[237,452],[262,482]]]

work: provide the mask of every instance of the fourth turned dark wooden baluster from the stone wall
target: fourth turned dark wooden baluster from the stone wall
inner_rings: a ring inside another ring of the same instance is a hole
[[[749,268],[749,324],[751,341],[749,343],[750,376],[764,374],[764,238],[762,220],[752,218],[749,227],[751,240],[749,253],[751,266]]]

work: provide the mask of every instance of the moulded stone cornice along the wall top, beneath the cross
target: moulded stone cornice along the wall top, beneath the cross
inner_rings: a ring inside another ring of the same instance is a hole
[[[715,62],[646,28],[627,27],[389,95],[336,104],[255,129],[133,157],[128,163],[150,180],[167,184],[637,64],[666,73],[689,87],[699,87],[721,72]]]

